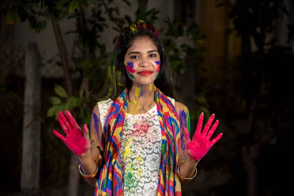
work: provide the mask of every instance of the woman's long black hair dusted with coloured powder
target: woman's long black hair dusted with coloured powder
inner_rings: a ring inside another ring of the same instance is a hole
[[[174,90],[172,71],[157,30],[152,25],[139,20],[138,22],[128,26],[127,29],[118,37],[105,73],[102,74],[102,81],[99,82],[101,86],[99,87],[96,96],[98,101],[106,100],[108,98],[114,100],[120,96],[125,88],[131,88],[132,81],[126,73],[124,55],[133,44],[133,41],[140,37],[149,37],[156,45],[160,55],[160,70],[158,77],[154,81],[154,85],[166,96],[174,98],[178,101],[180,100]]]

